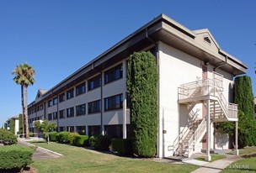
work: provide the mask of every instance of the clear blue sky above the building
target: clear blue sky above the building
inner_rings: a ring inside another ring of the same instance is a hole
[[[38,89],[54,87],[160,13],[192,30],[209,29],[222,50],[248,66],[256,93],[255,8],[254,0],[0,0],[0,126],[21,113],[16,65],[35,68],[32,102]]]

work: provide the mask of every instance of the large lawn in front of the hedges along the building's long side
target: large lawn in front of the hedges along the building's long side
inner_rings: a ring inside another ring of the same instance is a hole
[[[52,160],[35,160],[30,166],[39,172],[190,172],[197,165],[158,163],[151,159],[133,159],[104,154],[67,144],[33,143],[51,149],[64,157]]]

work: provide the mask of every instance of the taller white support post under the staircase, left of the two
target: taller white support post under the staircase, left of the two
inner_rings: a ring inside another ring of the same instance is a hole
[[[210,99],[206,101],[207,117],[206,117],[206,157],[205,160],[211,161],[211,114],[210,114]]]

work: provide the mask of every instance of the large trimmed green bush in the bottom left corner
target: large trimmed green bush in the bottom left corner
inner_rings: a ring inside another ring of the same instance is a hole
[[[24,168],[33,162],[32,155],[33,149],[26,146],[13,144],[0,148],[0,172]]]

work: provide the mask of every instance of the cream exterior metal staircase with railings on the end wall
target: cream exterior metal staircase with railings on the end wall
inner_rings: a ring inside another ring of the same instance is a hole
[[[220,74],[213,72],[213,78],[194,81],[179,87],[179,104],[203,103],[210,100],[210,114],[212,122],[237,121],[237,105],[227,102],[223,95],[222,77]],[[190,157],[193,154],[195,146],[200,142],[206,133],[205,118],[198,118],[198,110],[193,112],[190,107],[189,114],[192,116],[189,123],[181,131],[179,136],[173,141],[171,149],[173,155],[182,155]]]

